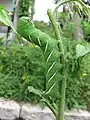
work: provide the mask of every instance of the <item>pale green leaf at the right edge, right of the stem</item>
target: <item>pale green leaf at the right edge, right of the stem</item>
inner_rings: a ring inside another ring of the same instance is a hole
[[[76,57],[83,57],[90,52],[90,46],[76,45]]]

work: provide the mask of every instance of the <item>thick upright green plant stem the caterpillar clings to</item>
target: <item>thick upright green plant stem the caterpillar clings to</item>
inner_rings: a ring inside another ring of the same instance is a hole
[[[63,43],[61,40],[61,34],[58,25],[56,24],[55,17],[50,9],[47,11],[49,19],[51,21],[52,27],[55,32],[55,36],[58,42],[58,49],[59,52],[61,53],[60,56],[60,63],[62,64],[62,69],[61,69],[61,75],[62,75],[62,82],[59,82],[59,93],[60,93],[60,99],[59,99],[59,104],[58,104],[58,115],[56,117],[57,120],[64,120],[64,106],[65,106],[65,92],[66,92],[66,64],[65,64],[65,58],[64,58],[64,47]],[[61,84],[61,88],[60,88]]]

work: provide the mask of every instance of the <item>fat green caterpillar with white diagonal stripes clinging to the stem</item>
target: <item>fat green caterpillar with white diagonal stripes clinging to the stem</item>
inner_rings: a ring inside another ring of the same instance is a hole
[[[35,25],[27,17],[20,18],[18,22],[17,32],[30,41],[38,45],[45,60],[45,88],[47,93],[58,91],[58,79],[60,79],[60,59],[57,41],[51,38],[48,34],[35,28]],[[54,94],[54,93],[52,93]]]

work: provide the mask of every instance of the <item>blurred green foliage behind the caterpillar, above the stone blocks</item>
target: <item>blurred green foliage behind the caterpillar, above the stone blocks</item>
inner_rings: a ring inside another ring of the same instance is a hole
[[[67,47],[71,49],[72,54],[74,54],[77,42],[72,42],[72,40],[65,38],[63,42],[65,47],[67,45]],[[84,42],[83,44],[88,43]],[[44,89],[45,66],[41,49],[33,44],[21,46],[17,43],[12,44],[10,48],[7,49],[1,44],[0,53],[0,97],[39,103],[40,98],[33,93],[29,93],[28,86],[34,86],[39,90]],[[89,109],[89,78],[90,56],[87,55],[82,61],[79,72],[68,74],[66,109]],[[53,103],[55,100],[51,100],[51,102]]]

